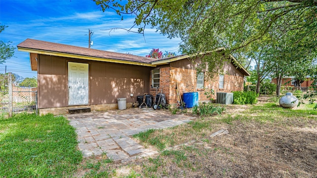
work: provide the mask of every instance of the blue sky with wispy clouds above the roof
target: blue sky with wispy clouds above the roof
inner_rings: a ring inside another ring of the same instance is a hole
[[[91,48],[145,56],[152,48],[178,53],[180,39],[168,39],[156,29],[148,27],[145,36],[129,29],[134,17],[123,21],[113,10],[102,12],[92,0],[0,0],[0,23],[8,26],[0,33],[0,40],[16,47],[27,38],[65,45],[88,47],[88,29],[93,31]],[[137,31],[137,27],[132,29]],[[17,51],[15,57],[0,64],[0,73],[16,73],[24,78],[36,77],[31,71],[29,53]]]

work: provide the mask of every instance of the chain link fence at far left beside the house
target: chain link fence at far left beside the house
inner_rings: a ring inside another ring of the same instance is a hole
[[[9,74],[0,78],[0,113],[37,112],[37,88],[19,87],[9,80]],[[13,79],[14,81],[14,79]],[[11,86],[11,87],[10,87]]]

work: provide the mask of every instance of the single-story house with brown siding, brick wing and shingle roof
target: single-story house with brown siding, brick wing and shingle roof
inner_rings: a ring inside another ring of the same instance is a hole
[[[131,107],[138,95],[155,95],[157,87],[167,104],[173,105],[176,83],[181,95],[197,91],[199,101],[206,101],[205,89],[242,91],[244,76],[250,76],[233,56],[224,65],[224,75],[207,81],[204,72],[196,74],[188,55],[154,59],[32,39],[17,47],[29,52],[31,69],[38,72],[40,113],[63,114],[80,107],[116,109],[117,98],[127,98],[127,107]]]

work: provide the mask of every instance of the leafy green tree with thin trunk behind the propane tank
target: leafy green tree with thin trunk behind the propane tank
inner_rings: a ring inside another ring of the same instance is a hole
[[[309,38],[298,40],[292,36],[295,35],[292,31],[281,38],[278,32],[270,34],[272,40],[269,41],[269,47],[263,56],[266,71],[277,79],[277,96],[280,94],[283,78],[299,74],[298,70],[307,70],[317,56],[316,49],[306,47],[310,43]]]

